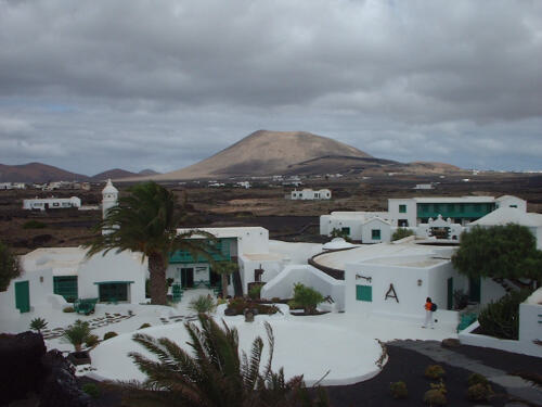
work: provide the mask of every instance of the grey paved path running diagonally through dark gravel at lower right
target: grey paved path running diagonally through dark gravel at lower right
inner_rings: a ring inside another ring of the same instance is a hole
[[[507,374],[504,370],[483,365],[481,361],[470,359],[457,352],[447,349],[438,341],[393,341],[390,345],[411,349],[428,356],[436,361],[470,370],[485,376],[489,381],[503,386],[506,392],[519,399],[529,402],[534,406],[542,406],[542,391],[532,386],[532,383],[517,377]],[[508,407],[526,406],[522,403],[509,403]]]

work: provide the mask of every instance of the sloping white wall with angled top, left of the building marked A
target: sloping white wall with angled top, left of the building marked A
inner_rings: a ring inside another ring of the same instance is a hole
[[[291,298],[294,295],[294,284],[297,282],[313,288],[324,296],[331,295],[338,310],[345,309],[344,281],[336,280],[309,265],[285,267],[279,276],[261,288],[261,296]]]

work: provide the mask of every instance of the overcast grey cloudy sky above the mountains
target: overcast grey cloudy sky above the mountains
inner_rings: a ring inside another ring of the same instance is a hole
[[[542,1],[0,0],[0,163],[169,171],[258,130],[542,169]]]

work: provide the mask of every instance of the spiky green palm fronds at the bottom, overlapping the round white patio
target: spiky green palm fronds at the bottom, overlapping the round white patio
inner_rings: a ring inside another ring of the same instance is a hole
[[[142,382],[124,383],[130,405],[141,406],[312,406],[302,377],[285,380],[284,371],[271,370],[274,336],[266,322],[269,359],[260,369],[263,341],[256,338],[250,356],[240,357],[236,329],[221,328],[199,314],[201,328],[185,323],[193,352],[186,352],[167,338],[154,339],[137,333],[133,340],[156,355],[152,360],[130,353],[139,369],[147,376]],[[192,356],[193,355],[193,356]],[[326,396],[319,393],[319,406]]]

